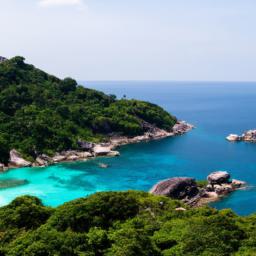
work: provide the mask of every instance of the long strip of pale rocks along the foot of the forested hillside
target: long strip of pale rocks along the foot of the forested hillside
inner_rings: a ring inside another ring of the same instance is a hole
[[[170,132],[150,126],[148,131],[141,136],[131,138],[125,136],[111,136],[109,142],[99,144],[79,141],[78,144],[80,150],[58,152],[53,157],[41,154],[37,156],[34,162],[24,159],[17,150],[12,149],[10,151],[8,165],[6,166],[0,163],[0,171],[20,167],[45,167],[61,162],[85,161],[98,156],[115,157],[120,155],[120,153],[115,150],[119,146],[182,135],[193,128],[193,125],[188,124],[185,121],[178,121]]]

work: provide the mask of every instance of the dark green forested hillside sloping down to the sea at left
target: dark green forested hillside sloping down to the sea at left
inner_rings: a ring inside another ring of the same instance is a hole
[[[157,105],[61,80],[15,57],[0,63],[0,162],[13,148],[29,159],[77,149],[78,141],[141,135],[148,124],[170,130],[176,118]]]

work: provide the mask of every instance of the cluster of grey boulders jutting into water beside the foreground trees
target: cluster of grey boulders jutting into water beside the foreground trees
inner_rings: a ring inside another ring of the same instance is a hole
[[[208,175],[204,185],[200,185],[194,178],[175,177],[160,181],[150,190],[154,195],[163,195],[182,200],[192,207],[216,202],[228,194],[244,188],[244,181],[232,179],[226,171],[216,171]]]

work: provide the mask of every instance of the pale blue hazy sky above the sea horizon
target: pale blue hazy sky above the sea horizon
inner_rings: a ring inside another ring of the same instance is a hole
[[[0,0],[0,55],[77,80],[256,81],[255,0]]]

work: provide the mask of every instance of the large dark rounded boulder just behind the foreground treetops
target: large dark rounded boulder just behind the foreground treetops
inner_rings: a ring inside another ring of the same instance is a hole
[[[199,193],[194,179],[187,177],[171,178],[157,183],[150,193],[174,199],[192,198]]]

